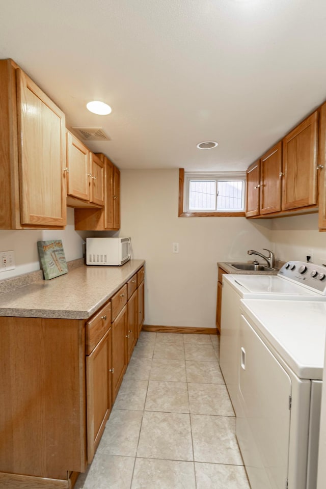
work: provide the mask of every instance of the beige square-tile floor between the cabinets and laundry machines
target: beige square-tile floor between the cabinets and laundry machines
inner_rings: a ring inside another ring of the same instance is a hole
[[[75,489],[250,489],[218,337],[142,332]]]

